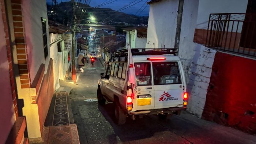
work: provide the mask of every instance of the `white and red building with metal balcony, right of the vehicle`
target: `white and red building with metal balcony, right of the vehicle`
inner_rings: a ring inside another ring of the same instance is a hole
[[[178,56],[190,94],[187,110],[255,133],[255,2],[151,0],[146,48],[174,48],[181,1]]]

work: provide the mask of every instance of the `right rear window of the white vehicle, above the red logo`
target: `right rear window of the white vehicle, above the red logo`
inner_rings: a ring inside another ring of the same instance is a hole
[[[154,84],[181,83],[178,62],[152,62]]]

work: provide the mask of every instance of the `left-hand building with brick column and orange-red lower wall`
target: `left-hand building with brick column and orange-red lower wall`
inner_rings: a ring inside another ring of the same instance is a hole
[[[4,33],[0,36],[5,37],[1,39],[1,44],[5,41],[1,49],[2,54],[6,54],[1,57],[6,66],[5,75],[1,76],[10,78],[5,85],[10,85],[11,91],[8,92],[10,87],[4,90],[6,100],[3,103],[9,108],[8,112],[3,112],[7,116],[1,119],[6,122],[1,122],[4,128],[1,128],[0,143],[7,138],[6,143],[12,138],[15,143],[22,143],[25,128],[25,137],[29,141],[40,141],[55,91],[46,3],[45,0],[1,0],[1,16],[0,24],[4,28],[1,31]],[[17,126],[20,117],[23,120],[19,134],[23,136],[14,136],[11,128]],[[22,137],[22,140],[17,140],[17,137]]]

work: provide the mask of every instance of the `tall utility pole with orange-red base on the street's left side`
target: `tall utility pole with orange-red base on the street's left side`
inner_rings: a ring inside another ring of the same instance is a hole
[[[72,26],[72,48],[71,48],[71,53],[72,53],[72,80],[74,80],[74,83],[76,83],[76,56],[75,56],[75,31],[76,31],[76,21],[75,21],[75,1],[71,0],[73,4],[73,26]]]

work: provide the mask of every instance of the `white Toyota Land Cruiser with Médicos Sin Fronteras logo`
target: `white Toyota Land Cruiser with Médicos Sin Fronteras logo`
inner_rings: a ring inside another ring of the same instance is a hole
[[[187,106],[188,94],[180,58],[173,49],[132,49],[137,87],[131,94],[128,82],[128,50],[116,52],[106,73],[98,80],[99,105],[114,102],[115,120],[124,124],[136,115],[180,114]]]

